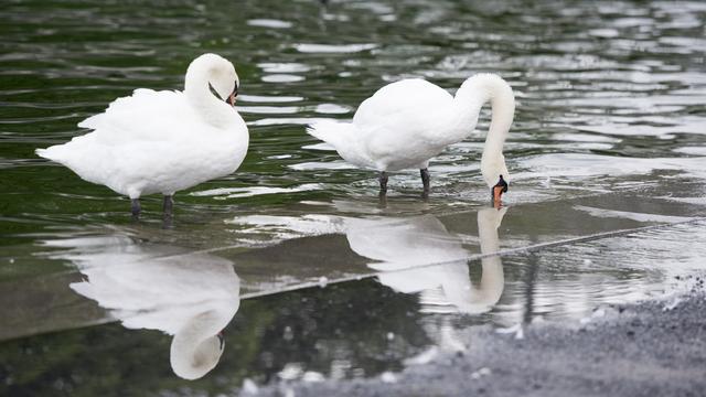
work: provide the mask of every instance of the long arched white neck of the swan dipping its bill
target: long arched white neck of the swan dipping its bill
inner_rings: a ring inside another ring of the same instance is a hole
[[[503,146],[515,114],[515,98],[510,85],[494,74],[478,74],[468,78],[453,98],[453,142],[463,140],[475,128],[478,116],[490,101],[492,118],[481,158],[481,172],[489,186],[498,183],[500,175],[507,182],[507,169]]]

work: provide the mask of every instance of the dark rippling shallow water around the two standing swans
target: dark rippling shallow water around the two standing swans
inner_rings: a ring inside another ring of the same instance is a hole
[[[704,271],[700,2],[11,1],[0,19],[6,393],[374,376],[460,348],[458,328],[581,319]],[[206,51],[236,64],[250,150],[233,175],[178,194],[172,227],[160,197],[135,223],[126,198],[33,154],[136,87],[180,88]],[[488,112],[431,162],[426,202],[411,170],[381,203],[373,173],[304,133],[350,119],[388,82],[453,92],[478,72],[517,98],[501,212],[478,165]],[[613,235],[662,224],[673,226]],[[140,296],[152,286],[161,296]],[[170,368],[170,335],[131,329],[173,331],[204,308],[229,323],[228,342],[186,383]]]

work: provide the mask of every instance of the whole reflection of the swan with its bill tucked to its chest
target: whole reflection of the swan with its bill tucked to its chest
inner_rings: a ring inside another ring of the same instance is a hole
[[[108,309],[127,329],[173,335],[174,374],[197,379],[223,354],[223,329],[238,310],[240,281],[233,262],[173,247],[137,245],[126,236],[50,242],[73,247],[57,257],[72,260],[86,281],[69,287]]]

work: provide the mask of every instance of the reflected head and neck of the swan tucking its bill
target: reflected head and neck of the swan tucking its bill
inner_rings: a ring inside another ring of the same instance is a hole
[[[170,348],[170,362],[174,374],[184,379],[197,379],[218,364],[223,350],[217,334],[228,324],[236,311],[237,305],[232,310],[232,314],[218,313],[216,310],[200,313],[174,334]]]

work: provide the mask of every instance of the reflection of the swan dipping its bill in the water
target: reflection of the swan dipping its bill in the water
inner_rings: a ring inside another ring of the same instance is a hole
[[[506,211],[489,207],[478,212],[481,254],[499,250],[498,228]],[[377,261],[368,267],[381,271],[379,281],[395,291],[421,293],[427,311],[480,314],[500,300],[504,287],[500,257],[481,259],[481,280],[473,286],[468,266],[471,253],[431,215],[349,219],[346,226],[351,249]]]

